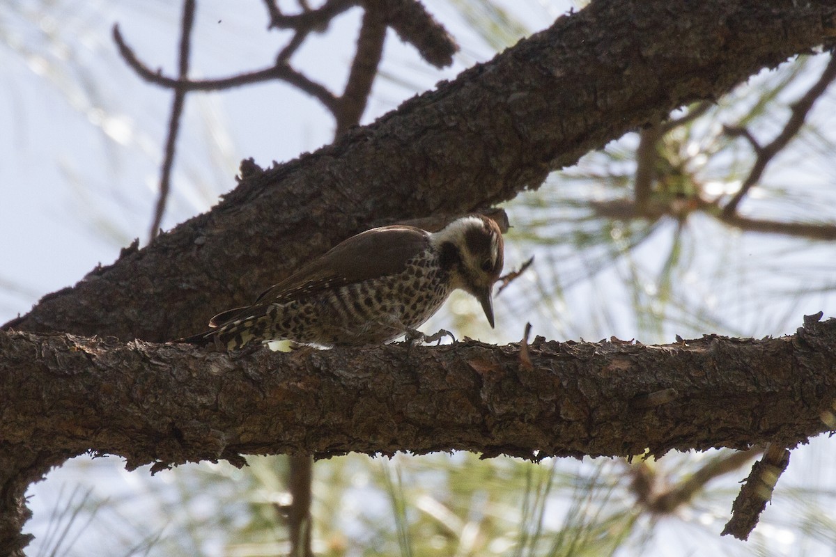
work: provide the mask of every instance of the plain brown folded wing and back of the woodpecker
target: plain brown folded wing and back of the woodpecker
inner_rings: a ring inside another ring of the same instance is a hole
[[[366,230],[334,246],[288,278],[271,286],[252,306],[237,307],[212,317],[210,327],[263,313],[273,302],[288,302],[329,288],[337,288],[375,276],[395,274],[406,261],[430,246],[430,235],[405,225]]]

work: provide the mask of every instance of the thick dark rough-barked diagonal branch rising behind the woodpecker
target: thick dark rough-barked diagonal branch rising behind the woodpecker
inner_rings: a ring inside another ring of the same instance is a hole
[[[5,327],[165,341],[370,225],[536,188],[625,132],[836,34],[833,3],[599,0],[334,144],[260,172]],[[326,225],[327,224],[327,225]]]

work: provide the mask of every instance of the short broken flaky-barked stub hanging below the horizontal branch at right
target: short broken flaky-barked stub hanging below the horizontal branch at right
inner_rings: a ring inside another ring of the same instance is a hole
[[[752,465],[746,484],[743,484],[732,504],[732,518],[726,523],[721,535],[732,534],[737,539],[748,539],[763,509],[766,509],[767,502],[772,499],[778,478],[788,465],[788,449],[770,443],[763,458]]]

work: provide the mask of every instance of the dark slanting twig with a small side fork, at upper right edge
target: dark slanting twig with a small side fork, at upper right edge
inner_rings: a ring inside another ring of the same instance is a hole
[[[761,180],[761,176],[763,175],[763,171],[766,170],[767,165],[769,165],[775,155],[778,154],[781,149],[786,147],[790,140],[798,134],[798,131],[804,124],[804,120],[807,118],[808,112],[813,108],[813,104],[824,94],[824,92],[828,89],[828,85],[833,82],[833,79],[836,79],[836,58],[831,55],[830,62],[828,63],[827,68],[824,68],[824,72],[821,77],[818,78],[818,81],[813,84],[813,87],[811,87],[801,99],[798,99],[798,101],[792,105],[792,114],[790,114],[787,124],[784,125],[784,129],[781,130],[781,133],[778,134],[775,139],[772,139],[772,143],[763,145],[761,149],[757,149],[758,142],[748,131],[735,127],[730,128],[732,129],[732,134],[743,135],[747,138],[749,143],[755,148],[757,158],[755,159],[755,164],[752,165],[752,170],[749,171],[749,175],[746,180],[743,181],[740,190],[738,190],[737,194],[735,194],[732,199],[726,203],[726,206],[723,207],[724,217],[729,217],[735,214],[737,211],[737,205],[739,205],[741,200],[747,195],[747,193],[749,193],[752,186]]]

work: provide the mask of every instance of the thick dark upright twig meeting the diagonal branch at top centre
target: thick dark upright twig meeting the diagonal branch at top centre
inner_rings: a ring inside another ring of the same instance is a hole
[[[368,0],[363,14],[357,38],[357,53],[351,63],[349,79],[339,98],[337,109],[332,110],[337,121],[334,133],[339,136],[351,126],[359,124],[366,104],[369,101],[371,85],[377,75],[377,67],[383,56],[383,43],[386,38],[386,20],[378,3]]]

